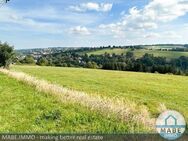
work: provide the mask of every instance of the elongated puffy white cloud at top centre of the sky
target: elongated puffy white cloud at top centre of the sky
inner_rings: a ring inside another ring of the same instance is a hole
[[[85,12],[85,11],[98,11],[98,12],[108,12],[112,9],[113,4],[111,3],[82,3],[76,6],[70,6],[69,9],[77,12]]]

